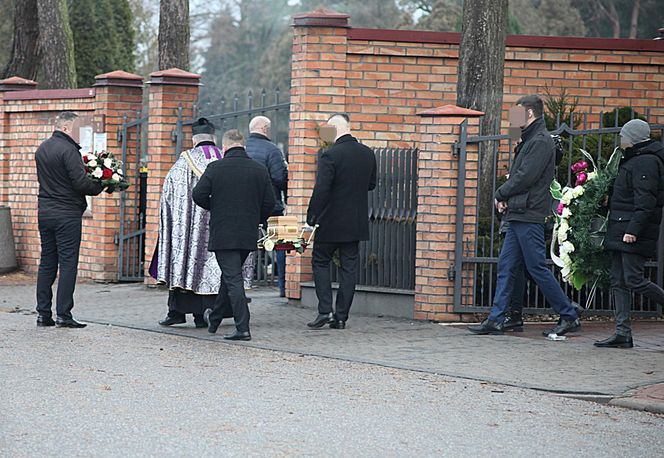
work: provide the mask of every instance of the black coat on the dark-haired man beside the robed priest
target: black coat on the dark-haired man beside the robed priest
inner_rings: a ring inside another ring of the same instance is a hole
[[[229,149],[223,159],[207,166],[193,198],[210,210],[209,251],[254,251],[258,225],[274,209],[267,169],[241,147]]]

